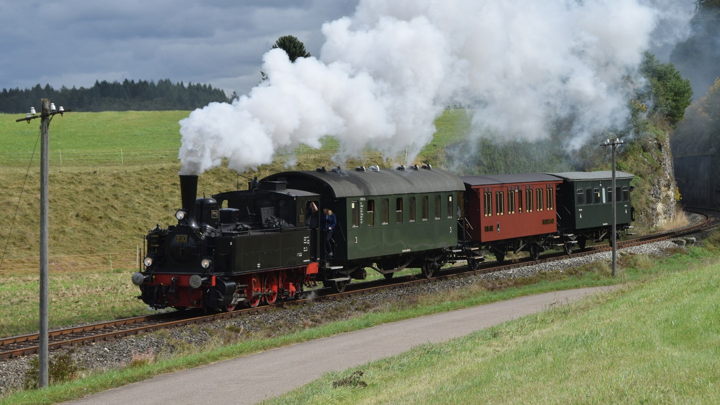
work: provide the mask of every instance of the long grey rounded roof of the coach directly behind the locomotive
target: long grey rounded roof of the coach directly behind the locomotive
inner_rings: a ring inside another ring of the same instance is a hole
[[[440,169],[327,170],[326,172],[282,172],[264,180],[287,181],[287,187],[332,194],[335,198],[395,195],[465,190],[454,174]]]

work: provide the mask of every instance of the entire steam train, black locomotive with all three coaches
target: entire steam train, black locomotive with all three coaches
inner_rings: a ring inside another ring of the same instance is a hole
[[[634,221],[632,174],[617,172],[457,177],[429,165],[318,168],[282,172],[248,190],[197,198],[197,176],[181,175],[177,224],[145,239],[143,269],[132,275],[152,308],[210,308],[297,298],[322,282],[341,292],[371,269],[391,278],[405,268],[424,277],[448,262],[471,267],[510,252],[538,259],[610,239]],[[315,208],[334,211],[323,241]]]

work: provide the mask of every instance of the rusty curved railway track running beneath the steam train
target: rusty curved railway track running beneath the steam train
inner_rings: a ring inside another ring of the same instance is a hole
[[[654,241],[678,238],[680,236],[686,236],[693,233],[708,231],[712,228],[720,226],[720,215],[717,210],[709,210],[706,208],[692,208],[688,209],[688,211],[704,215],[706,217],[705,221],[703,221],[702,223],[698,223],[694,226],[688,226],[686,228],[680,228],[674,231],[668,231],[665,233],[659,233],[650,236],[642,236],[639,238],[618,242],[618,247],[623,248],[635,246],[638,244],[652,243]],[[605,252],[611,249],[611,246],[608,246],[607,244],[588,246],[588,248],[582,249],[582,251],[580,252],[573,253],[571,256],[579,257],[588,254],[595,254],[598,252]],[[210,315],[207,315],[202,314],[199,311],[192,310],[172,311],[167,313],[154,313],[148,316],[135,316],[133,318],[118,319],[115,321],[98,322],[95,324],[71,326],[64,329],[56,329],[50,331],[48,348],[50,350],[55,350],[60,347],[68,347],[74,344],[83,344],[107,339],[115,339],[117,337],[125,337],[133,334],[140,334],[147,331],[166,329],[175,326],[199,324],[209,321],[215,321],[217,319],[232,318],[236,316],[248,316],[253,313],[269,311],[270,308],[282,307],[287,305],[297,305],[310,300],[338,299],[351,295],[367,294],[379,290],[395,289],[413,284],[433,282],[433,280],[447,280],[449,278],[467,277],[469,275],[476,275],[478,273],[508,270],[516,267],[523,267],[529,264],[538,264],[542,262],[552,262],[554,260],[567,259],[567,257],[568,255],[564,252],[558,252],[546,254],[544,257],[536,261],[529,261],[528,259],[516,259],[500,265],[498,265],[497,262],[484,263],[481,264],[477,270],[471,270],[467,266],[454,267],[452,269],[436,273],[436,276],[429,280],[421,277],[420,275],[408,275],[404,277],[397,277],[390,281],[381,279],[369,282],[351,283],[347,286],[346,291],[344,291],[343,293],[332,293],[330,291],[330,288],[322,288],[320,290],[312,290],[314,292],[312,294],[312,298],[300,298],[299,300],[295,301],[276,303],[274,306],[245,308],[229,313],[212,313]],[[309,294],[306,293],[306,295]],[[0,359],[6,360],[14,357],[37,353],[39,349],[38,339],[39,334],[37,333],[24,334],[22,336],[0,339]]]

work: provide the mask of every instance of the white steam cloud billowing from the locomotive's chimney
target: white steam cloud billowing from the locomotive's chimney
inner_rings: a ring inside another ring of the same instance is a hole
[[[552,120],[572,117],[568,147],[580,146],[624,123],[627,75],[644,50],[686,35],[691,11],[672,0],[361,0],[323,25],[320,58],[290,63],[270,50],[268,81],[181,120],[181,173],[222,158],[244,172],[325,135],[339,156],[372,146],[410,162],[449,104],[509,138],[544,138]]]

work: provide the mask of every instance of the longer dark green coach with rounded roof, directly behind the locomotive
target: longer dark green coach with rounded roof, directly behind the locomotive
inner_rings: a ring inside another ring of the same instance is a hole
[[[266,180],[284,180],[288,188],[316,193],[318,208],[333,210],[338,218],[333,263],[377,263],[382,272],[419,268],[457,244],[464,184],[443,170],[323,168],[273,174]]]

